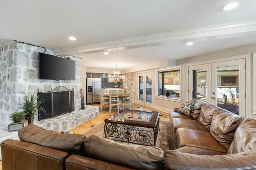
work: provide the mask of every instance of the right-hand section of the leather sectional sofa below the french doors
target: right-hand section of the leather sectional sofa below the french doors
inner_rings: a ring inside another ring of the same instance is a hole
[[[169,112],[176,143],[164,169],[256,169],[256,120],[194,100],[189,116]]]

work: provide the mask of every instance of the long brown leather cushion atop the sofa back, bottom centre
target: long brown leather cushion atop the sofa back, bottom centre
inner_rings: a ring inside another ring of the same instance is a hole
[[[84,142],[84,155],[132,169],[156,170],[162,169],[164,152],[154,146],[115,142],[92,135]]]

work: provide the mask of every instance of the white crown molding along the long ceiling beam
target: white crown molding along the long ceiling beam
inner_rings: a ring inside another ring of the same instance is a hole
[[[238,37],[248,32],[256,32],[256,20],[56,49],[54,52],[56,55],[79,55],[106,51],[106,49],[107,51],[115,51],[171,43],[185,43],[188,40],[202,41],[206,38]]]

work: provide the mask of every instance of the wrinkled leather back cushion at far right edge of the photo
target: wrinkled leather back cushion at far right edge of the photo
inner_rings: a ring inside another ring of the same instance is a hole
[[[234,140],[230,145],[228,154],[246,152],[256,148],[256,120],[244,119],[236,128]],[[256,160],[256,157],[254,157]]]

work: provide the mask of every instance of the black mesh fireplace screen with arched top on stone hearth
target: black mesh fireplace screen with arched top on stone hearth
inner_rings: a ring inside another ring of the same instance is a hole
[[[38,92],[40,99],[44,100],[41,106],[46,112],[38,112],[39,121],[74,111],[74,89],[58,86],[49,92]]]

